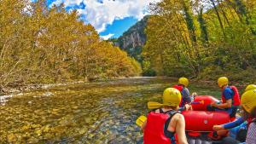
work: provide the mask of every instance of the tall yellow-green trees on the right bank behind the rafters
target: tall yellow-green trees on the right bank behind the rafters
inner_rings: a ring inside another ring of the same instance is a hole
[[[163,0],[149,9],[143,56],[158,75],[256,81],[255,0]]]

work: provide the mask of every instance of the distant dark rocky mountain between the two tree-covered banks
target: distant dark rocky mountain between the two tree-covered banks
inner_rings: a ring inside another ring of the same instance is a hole
[[[149,15],[138,21],[134,26],[131,26],[126,32],[117,39],[110,39],[115,46],[124,49],[128,55],[134,57],[139,62],[142,62],[142,49],[146,43],[147,37],[144,32]]]

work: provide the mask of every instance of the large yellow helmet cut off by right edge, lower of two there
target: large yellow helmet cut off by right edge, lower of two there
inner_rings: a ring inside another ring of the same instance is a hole
[[[248,90],[241,95],[241,107],[249,113],[252,112],[256,107],[256,89]]]

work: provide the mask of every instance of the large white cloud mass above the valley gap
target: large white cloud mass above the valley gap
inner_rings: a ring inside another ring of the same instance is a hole
[[[78,9],[86,22],[95,26],[97,32],[104,32],[106,26],[113,24],[113,20],[125,17],[142,19],[147,13],[149,3],[160,0],[56,0],[52,4],[64,3],[67,7],[84,3],[85,9]]]

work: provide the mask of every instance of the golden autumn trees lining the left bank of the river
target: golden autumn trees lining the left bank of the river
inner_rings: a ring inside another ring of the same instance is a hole
[[[0,87],[136,76],[140,65],[64,5],[0,1]]]

